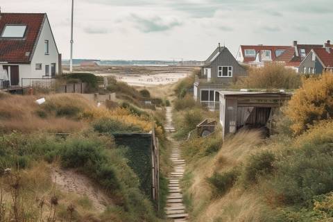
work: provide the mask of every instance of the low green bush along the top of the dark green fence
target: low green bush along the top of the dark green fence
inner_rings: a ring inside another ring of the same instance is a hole
[[[127,125],[114,119],[103,118],[92,123],[95,131],[99,133],[140,133],[142,128],[135,125]]]

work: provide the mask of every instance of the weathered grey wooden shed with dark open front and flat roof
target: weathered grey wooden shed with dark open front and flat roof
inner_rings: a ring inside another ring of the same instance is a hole
[[[244,126],[266,126],[273,114],[291,94],[284,92],[219,91],[220,123],[223,138]]]

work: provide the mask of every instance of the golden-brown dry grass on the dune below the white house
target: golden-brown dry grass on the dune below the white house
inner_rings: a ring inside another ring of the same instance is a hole
[[[1,98],[0,98],[1,99]],[[85,101],[77,95],[50,95],[46,96],[46,101],[51,103],[44,111],[45,105],[37,105],[36,96],[2,96],[0,106],[0,129],[5,132],[18,130],[28,133],[31,131],[62,132],[69,133],[80,130],[87,126],[83,121],[56,117],[54,110],[50,108],[66,107],[67,105],[77,105],[80,108],[92,106],[89,101]],[[39,111],[46,112],[46,117],[40,117]]]

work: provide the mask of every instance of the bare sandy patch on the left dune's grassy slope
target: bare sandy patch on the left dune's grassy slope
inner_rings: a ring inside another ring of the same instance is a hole
[[[92,200],[92,205],[96,210],[103,212],[112,203],[102,189],[99,189],[89,178],[74,170],[53,169],[51,178],[61,187],[62,191],[87,196]]]

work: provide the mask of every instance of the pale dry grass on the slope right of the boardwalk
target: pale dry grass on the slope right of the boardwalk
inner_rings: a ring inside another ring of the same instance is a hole
[[[257,191],[234,187],[225,196],[215,198],[206,178],[212,176],[214,171],[222,173],[237,167],[248,155],[262,150],[259,147],[262,142],[259,130],[244,130],[225,139],[214,157],[203,157],[189,164],[187,172],[192,175],[191,185],[185,195],[191,197],[192,221],[261,221],[259,217],[264,205]]]

